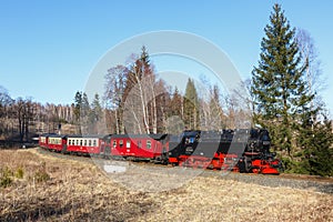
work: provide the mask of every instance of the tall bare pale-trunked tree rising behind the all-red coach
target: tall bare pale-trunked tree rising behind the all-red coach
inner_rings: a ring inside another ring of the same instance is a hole
[[[157,99],[161,94],[157,84],[154,67],[151,64],[145,47],[140,57],[130,65],[123,94],[128,129],[135,133],[158,132]],[[131,121],[137,121],[137,127]]]

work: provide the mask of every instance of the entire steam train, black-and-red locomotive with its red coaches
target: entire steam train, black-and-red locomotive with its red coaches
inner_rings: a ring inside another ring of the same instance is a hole
[[[40,147],[62,153],[151,161],[241,173],[279,174],[281,161],[271,152],[264,129],[186,130],[174,134],[42,134]]]

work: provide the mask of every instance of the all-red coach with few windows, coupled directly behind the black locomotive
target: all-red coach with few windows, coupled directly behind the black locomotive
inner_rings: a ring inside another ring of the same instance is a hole
[[[111,135],[111,155],[133,160],[157,160],[167,152],[167,134],[114,134]]]

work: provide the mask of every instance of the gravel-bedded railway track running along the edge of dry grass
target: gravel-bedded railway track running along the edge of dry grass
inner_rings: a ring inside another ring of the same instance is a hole
[[[94,157],[93,159],[89,155],[71,155],[71,154],[61,154],[48,150],[43,150],[41,148],[37,148],[37,152],[42,155],[49,155],[62,160],[74,160],[84,163],[94,164],[95,160],[100,158]],[[97,158],[97,159],[95,159]],[[102,159],[101,159],[102,160]],[[153,164],[147,162],[131,162],[140,168],[145,168],[148,171],[159,169],[165,169],[170,167]],[[176,167],[178,168],[178,167]],[[214,171],[214,170],[202,170],[202,169],[189,169],[189,172],[198,176],[213,176],[219,178],[221,180],[233,180],[239,182],[252,183],[263,186],[271,188],[291,188],[291,189],[301,189],[301,190],[312,190],[315,192],[329,193],[333,195],[333,179],[332,178],[320,178],[313,175],[300,175],[300,174],[286,174],[282,173],[280,175],[263,175],[263,174],[249,174],[249,173],[234,173],[234,172],[223,172],[223,171]]]

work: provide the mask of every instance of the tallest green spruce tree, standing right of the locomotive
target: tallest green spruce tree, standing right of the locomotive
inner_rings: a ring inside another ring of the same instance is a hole
[[[264,29],[258,67],[252,71],[254,122],[268,128],[274,148],[293,158],[300,124],[311,112],[313,94],[304,83],[306,62],[302,63],[295,29],[274,4]]]

